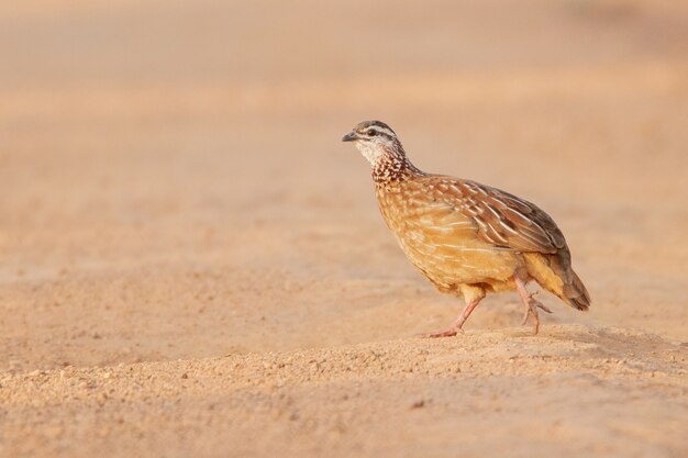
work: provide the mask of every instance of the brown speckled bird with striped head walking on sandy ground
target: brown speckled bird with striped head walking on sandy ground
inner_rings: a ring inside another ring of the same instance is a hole
[[[507,291],[519,293],[522,325],[532,319],[537,334],[537,310],[552,310],[529,292],[532,281],[576,310],[589,309],[564,234],[539,206],[477,181],[420,170],[381,121],[364,121],[342,141],[353,142],[370,164],[380,213],[411,264],[437,290],[465,301],[448,328],[424,337],[457,335],[488,293]]]

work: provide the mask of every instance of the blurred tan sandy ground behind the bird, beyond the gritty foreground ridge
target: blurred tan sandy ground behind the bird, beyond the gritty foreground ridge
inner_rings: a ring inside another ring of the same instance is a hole
[[[595,303],[545,326],[688,338],[686,2],[4,2],[0,57],[0,369],[444,326],[340,142],[367,119],[559,223]]]

